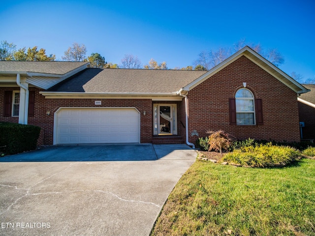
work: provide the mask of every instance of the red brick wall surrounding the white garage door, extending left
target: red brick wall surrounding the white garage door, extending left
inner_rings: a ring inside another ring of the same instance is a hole
[[[0,88],[0,102],[4,102],[5,90],[20,90],[19,88]],[[42,128],[39,137],[39,145],[52,145],[54,136],[54,113],[60,107],[135,107],[140,112],[140,142],[151,143],[153,135],[153,107],[151,99],[46,99],[39,94],[40,89],[35,90],[34,117],[29,117],[28,124]],[[95,105],[95,100],[102,101],[101,106]],[[3,117],[3,105],[0,106],[0,121],[18,122],[18,118]],[[50,111],[50,115],[46,115]],[[146,111],[146,115],[143,112]]]

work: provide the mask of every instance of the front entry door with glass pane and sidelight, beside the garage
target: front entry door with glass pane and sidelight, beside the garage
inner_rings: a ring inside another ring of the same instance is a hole
[[[177,134],[176,104],[154,104],[154,134]]]

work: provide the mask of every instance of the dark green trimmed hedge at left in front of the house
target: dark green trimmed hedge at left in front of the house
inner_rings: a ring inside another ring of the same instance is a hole
[[[0,147],[5,154],[33,150],[37,146],[40,127],[17,123],[0,123]]]

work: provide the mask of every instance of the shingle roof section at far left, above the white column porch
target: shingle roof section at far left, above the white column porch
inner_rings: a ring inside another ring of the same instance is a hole
[[[63,75],[88,62],[69,61],[0,61],[0,72],[34,72]]]

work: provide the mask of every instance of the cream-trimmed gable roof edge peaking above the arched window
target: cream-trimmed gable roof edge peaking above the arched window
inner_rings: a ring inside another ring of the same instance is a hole
[[[211,70],[209,70],[207,73],[200,76],[198,79],[192,81],[187,86],[185,86],[182,91],[189,91],[205,80],[209,79],[211,76],[225,68],[227,65],[231,64],[233,61],[239,59],[240,57],[245,56],[246,58],[250,59],[252,62],[254,62],[256,65],[264,69],[266,72],[271,74],[273,77],[278,79],[280,82],[282,82],[284,85],[295,91],[297,94],[308,92],[309,90],[303,87],[301,84],[296,82],[294,79],[292,79],[290,76],[288,76],[286,73],[284,73],[282,70],[280,70],[277,66],[269,62],[268,60],[264,59],[262,56],[260,56],[258,53],[253,51],[250,47],[246,46],[237,53],[233,54],[228,59],[225,59],[217,66],[213,67]]]

